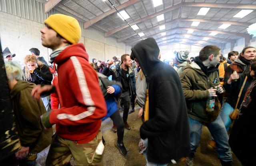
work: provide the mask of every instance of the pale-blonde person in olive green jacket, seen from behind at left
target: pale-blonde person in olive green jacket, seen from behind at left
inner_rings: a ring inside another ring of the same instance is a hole
[[[37,153],[50,145],[52,128],[44,129],[41,122],[40,116],[46,113],[42,100],[36,101],[31,97],[35,85],[22,80],[23,72],[17,63],[8,61],[5,68],[21,144],[16,158],[10,162],[18,159],[19,166],[36,166]]]

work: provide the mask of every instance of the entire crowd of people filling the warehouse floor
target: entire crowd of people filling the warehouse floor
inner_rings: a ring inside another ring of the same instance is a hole
[[[138,103],[143,123],[141,139],[134,141],[147,166],[182,158],[194,166],[202,125],[210,130],[208,145],[222,166],[232,165],[231,150],[244,166],[254,165],[255,47],[231,51],[226,60],[219,47],[207,45],[196,57],[178,51],[161,61],[156,41],[147,38],[130,55],[90,62],[78,42],[76,19],[53,14],[44,24],[41,40],[52,49],[50,63],[31,48],[22,69],[8,47],[3,51],[21,148],[2,163],[36,166],[37,153],[50,145],[46,166],[70,165],[71,157],[75,165],[102,166],[101,123],[108,117],[116,147],[126,156],[124,129],[131,129],[128,115]]]

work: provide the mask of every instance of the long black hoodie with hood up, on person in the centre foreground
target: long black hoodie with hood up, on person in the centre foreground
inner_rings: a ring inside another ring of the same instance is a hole
[[[140,137],[148,139],[147,164],[167,166],[190,154],[189,125],[178,73],[158,56],[153,38],[132,47],[131,58],[139,63],[148,83],[149,119],[140,127]]]

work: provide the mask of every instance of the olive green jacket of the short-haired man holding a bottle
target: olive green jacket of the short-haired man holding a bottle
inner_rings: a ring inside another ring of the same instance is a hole
[[[180,79],[188,107],[188,116],[202,123],[214,121],[220,111],[220,102],[216,97],[214,111],[207,112],[206,101],[209,99],[208,89],[220,84],[218,70],[213,71],[207,77],[199,65],[192,62],[184,69]]]

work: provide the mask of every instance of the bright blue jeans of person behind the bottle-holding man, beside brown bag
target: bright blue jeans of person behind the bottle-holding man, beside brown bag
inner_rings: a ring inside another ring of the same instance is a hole
[[[220,112],[220,117],[226,127],[226,130],[229,130],[230,124],[232,123],[232,120],[230,119],[229,115],[230,113],[234,111],[234,108],[231,107],[231,105],[227,102],[223,103],[222,111]]]

